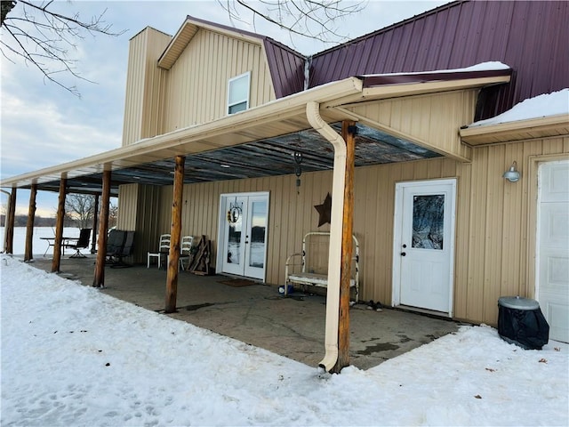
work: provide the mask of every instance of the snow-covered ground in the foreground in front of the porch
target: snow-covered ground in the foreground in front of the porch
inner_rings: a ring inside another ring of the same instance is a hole
[[[568,425],[569,345],[463,326],[325,374],[0,257],[6,426]]]

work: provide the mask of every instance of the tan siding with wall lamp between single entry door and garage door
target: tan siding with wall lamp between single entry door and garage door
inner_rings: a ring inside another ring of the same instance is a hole
[[[541,157],[568,155],[569,136],[473,149],[469,193],[459,193],[469,198],[470,210],[468,228],[457,234],[456,318],[495,325],[498,298],[535,298],[536,223],[530,213],[537,203],[537,176],[530,170]],[[517,182],[501,176],[513,161],[522,174]],[[466,265],[459,264],[465,256]]]

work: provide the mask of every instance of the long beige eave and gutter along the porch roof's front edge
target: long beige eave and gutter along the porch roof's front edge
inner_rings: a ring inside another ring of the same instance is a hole
[[[23,173],[0,181],[0,187],[26,187],[32,183],[59,180],[61,177],[71,178],[101,173],[103,170],[123,169],[124,167],[179,155],[185,156],[239,145],[255,141],[257,138],[277,136],[257,134],[254,132],[255,126],[262,129],[262,126],[258,125],[277,122],[295,116],[303,118],[299,120],[298,128],[294,129],[293,132],[300,131],[309,127],[309,125],[305,125],[307,102],[340,101],[342,98],[361,93],[361,91],[361,80],[357,77],[349,77],[328,85],[318,86],[309,91],[294,93],[279,100],[231,116],[221,117],[203,125],[189,126],[90,157],[50,166],[31,173]]]

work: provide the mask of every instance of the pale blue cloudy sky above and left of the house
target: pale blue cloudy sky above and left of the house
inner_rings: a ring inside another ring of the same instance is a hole
[[[225,3],[225,2],[221,2]],[[335,27],[348,39],[411,18],[448,1],[374,1]],[[12,63],[0,55],[0,178],[60,165],[121,146],[124,93],[129,39],[147,26],[174,35],[187,15],[235,26],[270,36],[298,52],[321,52],[330,44],[293,36],[274,24],[252,20],[242,10],[241,20],[231,21],[217,0],[212,1],[60,1],[53,4],[59,12],[79,13],[91,20],[104,12],[103,19],[121,36],[90,36],[77,39],[76,70],[94,84],[75,80],[81,98],[49,81],[29,64]],[[21,13],[20,5],[9,16]],[[254,25],[253,25],[254,24]],[[2,40],[8,40],[4,28]],[[17,192],[17,214],[28,214],[28,190]],[[2,205],[7,196],[1,194]],[[55,216],[57,195],[39,191],[36,199],[39,216]]]

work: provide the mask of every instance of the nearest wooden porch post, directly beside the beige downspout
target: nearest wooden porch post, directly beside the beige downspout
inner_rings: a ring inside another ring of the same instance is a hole
[[[349,366],[349,281],[353,253],[354,218],[354,157],[356,147],[355,123],[344,120],[341,136],[346,141],[346,181],[344,184],[344,215],[341,235],[340,313],[338,322],[338,360],[332,372],[339,374]]]

